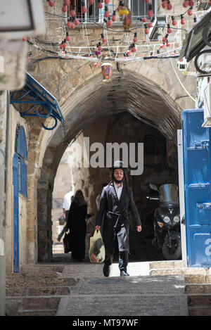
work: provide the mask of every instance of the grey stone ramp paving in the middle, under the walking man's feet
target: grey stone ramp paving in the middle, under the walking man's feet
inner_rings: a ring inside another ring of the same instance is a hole
[[[120,277],[117,263],[110,277],[103,265],[72,262],[60,277],[79,281],[60,299],[56,316],[185,316],[188,315],[183,275],[153,276],[149,262],[129,262],[130,277]]]

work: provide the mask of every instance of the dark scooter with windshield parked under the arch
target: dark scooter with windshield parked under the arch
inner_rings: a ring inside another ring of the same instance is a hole
[[[162,184],[160,188],[150,184],[158,196],[147,196],[160,201],[154,214],[153,246],[162,248],[162,254],[167,260],[177,260],[181,257],[181,234],[179,216],[178,187],[175,184]]]

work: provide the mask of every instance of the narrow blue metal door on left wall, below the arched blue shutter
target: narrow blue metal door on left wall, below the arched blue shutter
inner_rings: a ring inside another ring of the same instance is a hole
[[[13,156],[13,272],[19,272],[18,155]]]

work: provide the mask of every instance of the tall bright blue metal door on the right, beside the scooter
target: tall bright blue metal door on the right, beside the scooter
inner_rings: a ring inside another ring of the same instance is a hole
[[[203,109],[183,110],[184,199],[188,267],[211,267],[211,163]]]

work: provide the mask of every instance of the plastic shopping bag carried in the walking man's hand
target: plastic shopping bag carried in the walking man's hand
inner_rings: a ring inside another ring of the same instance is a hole
[[[105,246],[100,230],[94,231],[94,236],[90,237],[89,260],[91,262],[101,263],[105,260]]]

